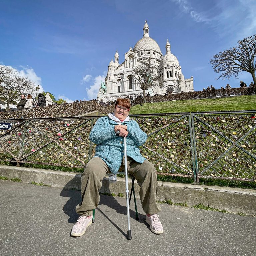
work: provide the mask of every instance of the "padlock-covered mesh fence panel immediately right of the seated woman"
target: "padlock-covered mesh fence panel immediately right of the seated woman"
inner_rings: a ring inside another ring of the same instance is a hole
[[[158,174],[193,177],[189,114],[134,119],[148,135],[141,153],[154,164]]]

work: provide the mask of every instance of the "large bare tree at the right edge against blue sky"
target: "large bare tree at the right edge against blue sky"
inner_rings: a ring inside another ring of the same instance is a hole
[[[230,49],[219,52],[210,59],[210,64],[216,73],[221,73],[217,78],[224,80],[232,75],[237,78],[240,72],[246,71],[252,75],[256,85],[256,34],[239,40],[238,44]],[[256,93],[256,87],[254,88]]]

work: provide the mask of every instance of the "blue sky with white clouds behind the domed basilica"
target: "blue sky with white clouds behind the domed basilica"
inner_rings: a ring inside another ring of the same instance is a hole
[[[0,64],[68,102],[97,98],[116,50],[119,63],[143,37],[166,53],[167,39],[194,90],[239,87],[249,73],[216,80],[214,55],[256,33],[255,0],[2,0]]]

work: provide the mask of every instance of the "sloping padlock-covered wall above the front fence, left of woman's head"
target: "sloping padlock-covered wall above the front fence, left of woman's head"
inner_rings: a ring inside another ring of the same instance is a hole
[[[39,108],[27,108],[0,112],[0,119],[21,119],[21,118],[52,118],[52,117],[74,117],[92,111],[100,114],[113,112],[114,105],[101,106],[95,100],[51,105]]]

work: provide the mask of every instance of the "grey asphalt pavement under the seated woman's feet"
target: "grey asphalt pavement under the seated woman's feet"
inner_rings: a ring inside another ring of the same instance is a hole
[[[154,235],[138,202],[131,204],[132,240],[126,239],[126,200],[101,196],[96,221],[70,237],[80,191],[0,180],[0,255],[256,255],[256,219],[162,205],[164,234]]]

